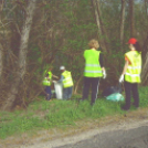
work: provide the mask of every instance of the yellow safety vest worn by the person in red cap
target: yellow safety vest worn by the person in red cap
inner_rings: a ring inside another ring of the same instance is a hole
[[[137,51],[130,51],[125,54],[130,64],[125,73],[125,81],[130,83],[140,83],[141,54]]]

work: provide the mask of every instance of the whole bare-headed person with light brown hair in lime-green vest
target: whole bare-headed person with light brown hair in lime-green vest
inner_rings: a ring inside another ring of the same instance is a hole
[[[99,44],[97,40],[91,40],[88,43],[89,50],[84,51],[85,68],[84,68],[84,87],[82,101],[88,98],[88,91],[92,85],[92,101],[91,105],[94,105],[101,77],[106,78],[106,71],[103,65],[103,54],[97,51]]]

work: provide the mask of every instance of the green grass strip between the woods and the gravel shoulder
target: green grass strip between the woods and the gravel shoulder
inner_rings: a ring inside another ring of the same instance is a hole
[[[139,88],[140,107],[148,106],[148,87]],[[53,127],[66,128],[75,126],[75,121],[83,119],[97,119],[105,116],[124,114],[120,104],[98,98],[92,107],[89,101],[78,103],[78,96],[71,101],[53,99],[33,102],[25,110],[13,113],[0,112],[0,138],[20,135],[30,130],[49,129]]]

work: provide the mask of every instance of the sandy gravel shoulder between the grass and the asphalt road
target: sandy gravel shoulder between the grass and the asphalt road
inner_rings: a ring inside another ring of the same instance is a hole
[[[56,148],[74,145],[93,136],[117,130],[130,130],[148,126],[148,109],[127,112],[120,116],[105,117],[97,120],[77,121],[76,126],[65,129],[49,129],[23,134],[0,140],[0,148]]]

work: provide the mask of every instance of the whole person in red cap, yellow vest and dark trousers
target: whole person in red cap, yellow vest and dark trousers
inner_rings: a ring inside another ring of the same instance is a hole
[[[119,77],[119,83],[124,82],[125,87],[125,105],[121,107],[123,110],[128,110],[130,108],[130,93],[133,93],[134,103],[133,105],[139,107],[139,94],[138,84],[140,83],[141,73],[141,49],[139,42],[131,38],[128,40],[129,52],[125,54],[125,66],[123,74]]]

